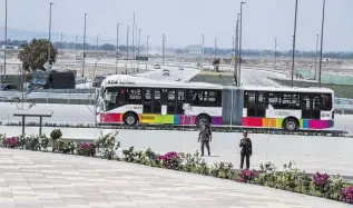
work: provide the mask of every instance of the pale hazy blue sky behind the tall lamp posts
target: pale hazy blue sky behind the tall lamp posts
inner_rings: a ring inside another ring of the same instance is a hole
[[[244,1],[244,0],[243,0]],[[245,0],[243,6],[243,49],[290,50],[293,44],[295,0]],[[136,13],[141,43],[149,36],[150,46],[200,44],[232,48],[241,0],[8,0],[8,27],[26,31],[48,31],[49,3],[52,6],[52,32],[84,36],[99,42],[116,38],[120,23],[120,42],[126,43],[127,26]],[[315,50],[321,33],[323,0],[298,0],[296,49]],[[326,0],[324,51],[353,51],[353,0]],[[0,0],[0,26],[4,24],[4,0]],[[3,34],[0,34],[0,38]],[[9,37],[11,38],[11,37]],[[65,39],[65,37],[63,37]],[[58,41],[58,40],[57,40]],[[131,42],[131,38],[130,38]]]

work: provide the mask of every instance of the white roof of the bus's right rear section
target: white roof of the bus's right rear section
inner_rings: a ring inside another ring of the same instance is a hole
[[[244,90],[251,91],[286,91],[286,92],[317,92],[317,93],[333,93],[329,88],[297,88],[297,87],[263,87],[263,86],[244,86]]]

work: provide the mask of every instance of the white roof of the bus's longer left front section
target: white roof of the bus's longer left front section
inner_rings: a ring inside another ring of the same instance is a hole
[[[205,83],[205,82],[183,82],[183,81],[163,81],[148,78],[114,75],[109,76],[101,82],[101,87],[165,87],[165,88],[196,88],[196,89],[223,89],[220,85]]]

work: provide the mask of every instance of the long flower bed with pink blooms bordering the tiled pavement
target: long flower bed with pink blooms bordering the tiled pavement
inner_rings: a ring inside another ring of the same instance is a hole
[[[6,135],[0,135],[0,146],[4,148],[48,151],[48,143],[51,140],[53,145],[51,151],[53,152],[99,157],[102,159],[199,174],[353,204],[353,186],[345,185],[341,176],[330,176],[321,172],[310,176],[297,169],[294,162],[285,164],[281,171],[272,162],[261,164],[258,170],[245,169],[238,171],[234,170],[233,165],[229,162],[216,162],[214,166],[208,166],[198,151],[195,153],[170,151],[165,155],[158,155],[150,148],[141,151],[130,147],[129,149],[124,149],[122,155],[118,156],[117,150],[120,147],[120,142],[118,141],[117,131],[100,135],[97,141],[92,143],[76,143],[75,141],[63,140],[61,137],[60,129],[53,130],[50,133],[50,138],[46,136],[7,138]]]

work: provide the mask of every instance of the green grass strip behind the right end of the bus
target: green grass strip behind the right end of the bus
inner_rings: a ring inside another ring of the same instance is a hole
[[[269,78],[273,81],[276,81],[277,83],[282,86],[291,86],[291,80],[283,80],[283,79],[276,79],[276,78]],[[297,81],[294,80],[294,86],[298,88],[310,88],[310,87],[317,87],[317,82],[308,82],[308,81]],[[353,86],[347,85],[334,85],[334,83],[322,83],[323,88],[330,88],[334,90],[335,97],[337,98],[353,98]]]

